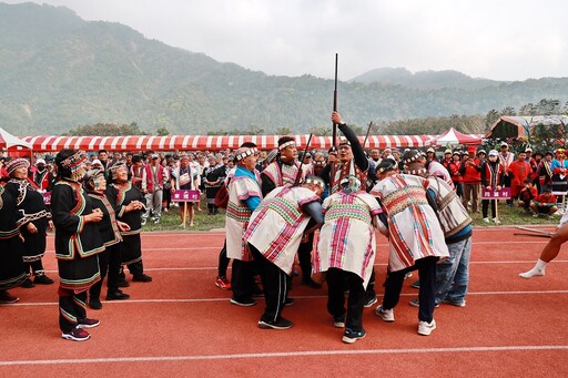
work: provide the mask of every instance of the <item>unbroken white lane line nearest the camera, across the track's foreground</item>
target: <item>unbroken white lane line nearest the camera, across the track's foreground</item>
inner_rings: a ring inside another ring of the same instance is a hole
[[[63,365],[63,364],[109,364],[109,362],[161,362],[161,361],[195,361],[223,359],[271,359],[275,357],[305,357],[305,356],[351,356],[351,355],[412,355],[412,354],[463,354],[463,353],[491,353],[491,351],[526,351],[526,350],[567,350],[568,345],[523,345],[523,346],[488,346],[488,347],[455,347],[455,348],[404,348],[404,349],[357,349],[357,350],[302,350],[302,351],[273,351],[233,355],[196,355],[196,356],[145,356],[145,357],[114,357],[114,358],[67,358],[67,359],[36,359],[0,361],[0,366],[23,365]]]

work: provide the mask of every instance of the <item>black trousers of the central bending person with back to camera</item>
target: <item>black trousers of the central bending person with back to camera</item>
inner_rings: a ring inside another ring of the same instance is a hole
[[[403,276],[404,277],[404,276]],[[365,305],[365,288],[363,278],[354,273],[331,268],[327,270],[327,311],[333,317],[345,317],[345,328],[363,329],[363,306]],[[345,284],[349,289],[347,310],[345,310]]]

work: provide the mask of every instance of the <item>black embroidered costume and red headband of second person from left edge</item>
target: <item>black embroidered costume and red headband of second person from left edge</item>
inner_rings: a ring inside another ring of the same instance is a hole
[[[29,167],[29,163],[24,159],[14,159],[7,164],[7,170],[9,173],[12,173],[19,166]],[[23,263],[27,266],[26,270],[28,274],[30,269],[32,270],[37,283],[52,284],[53,280],[45,277],[41,263],[41,258],[45,254],[48,221],[51,219],[51,213],[45,207],[43,195],[27,177],[10,178],[6,184],[6,190],[16,198],[16,206],[23,215],[23,225],[20,232],[24,239]],[[37,233],[28,231],[28,223],[32,223],[36,226]],[[33,286],[31,282],[29,282],[29,285]]]

